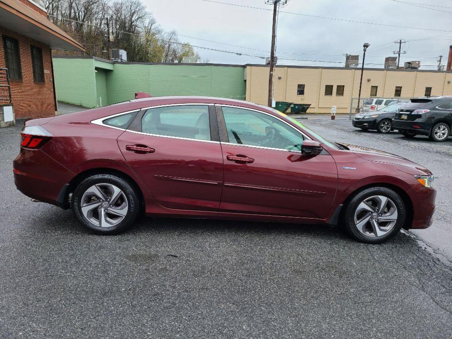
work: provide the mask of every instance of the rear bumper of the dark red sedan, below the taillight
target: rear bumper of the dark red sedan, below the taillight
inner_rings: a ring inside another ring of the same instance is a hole
[[[26,196],[62,206],[61,192],[75,176],[41,150],[21,149],[14,159],[14,184]]]

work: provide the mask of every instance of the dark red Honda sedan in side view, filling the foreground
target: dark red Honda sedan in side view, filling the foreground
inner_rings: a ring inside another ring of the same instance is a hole
[[[25,122],[14,181],[72,208],[99,234],[140,212],[308,224],[340,222],[380,243],[433,222],[432,173],[327,141],[278,111],[230,99],[154,97]]]

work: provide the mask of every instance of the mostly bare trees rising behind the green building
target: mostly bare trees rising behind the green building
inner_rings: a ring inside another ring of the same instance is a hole
[[[140,0],[38,1],[47,10],[48,19],[80,42],[89,55],[108,59],[108,48],[120,48],[127,52],[127,61],[181,62],[186,56],[199,58],[188,42],[179,41],[177,32],[165,32]],[[111,42],[107,40],[109,35]]]

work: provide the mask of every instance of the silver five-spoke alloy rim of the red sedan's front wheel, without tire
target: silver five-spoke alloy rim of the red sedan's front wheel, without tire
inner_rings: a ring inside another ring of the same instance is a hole
[[[397,218],[395,203],[383,195],[374,195],[358,205],[354,221],[363,235],[377,237],[391,231]]]

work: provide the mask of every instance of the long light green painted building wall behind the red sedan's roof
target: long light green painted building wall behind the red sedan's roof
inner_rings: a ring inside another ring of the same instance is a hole
[[[99,98],[103,106],[131,100],[135,92],[245,99],[241,66],[112,64],[65,57],[53,62],[57,99],[85,107],[96,107]]]

